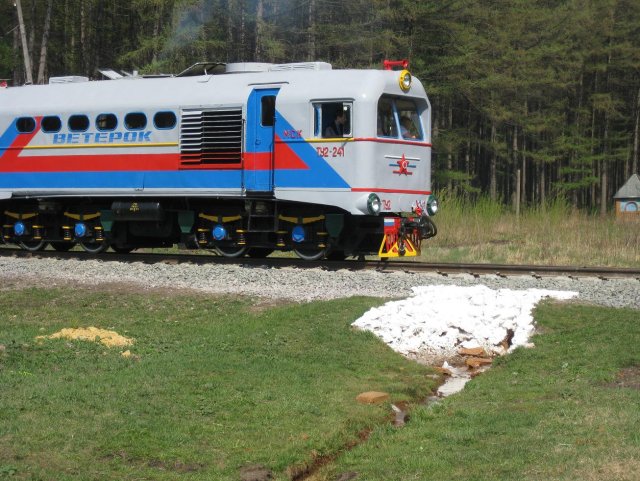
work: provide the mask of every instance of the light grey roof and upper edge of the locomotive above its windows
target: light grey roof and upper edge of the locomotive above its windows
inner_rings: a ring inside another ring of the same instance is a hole
[[[369,99],[377,102],[383,92],[426,97],[419,80],[414,78],[411,89],[405,93],[400,89],[398,78],[397,71],[333,70],[330,66],[315,70],[259,72],[239,68],[234,73],[184,77],[135,76],[0,89],[0,112],[51,115],[77,111],[167,109],[172,106],[242,105],[251,90],[268,87],[280,88],[278,98],[282,102],[314,99]]]

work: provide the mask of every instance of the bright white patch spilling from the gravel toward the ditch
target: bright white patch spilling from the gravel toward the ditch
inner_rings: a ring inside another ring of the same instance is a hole
[[[531,312],[543,298],[578,296],[573,291],[490,289],[431,285],[412,288],[413,295],[367,311],[353,325],[377,335],[392,349],[412,357],[451,357],[461,347],[483,347],[503,354],[528,346],[534,331]]]

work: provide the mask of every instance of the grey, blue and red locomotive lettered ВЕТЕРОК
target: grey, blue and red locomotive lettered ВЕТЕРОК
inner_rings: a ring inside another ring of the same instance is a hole
[[[406,62],[200,63],[0,88],[0,226],[30,251],[416,256],[431,106]]]

